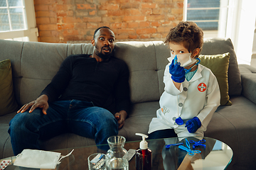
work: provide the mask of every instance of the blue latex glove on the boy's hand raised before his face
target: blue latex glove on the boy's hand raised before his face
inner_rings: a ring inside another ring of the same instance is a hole
[[[182,83],[185,81],[185,70],[181,67],[181,63],[177,63],[177,55],[172,60],[169,65],[169,73],[171,74],[171,79],[173,79],[176,83]]]

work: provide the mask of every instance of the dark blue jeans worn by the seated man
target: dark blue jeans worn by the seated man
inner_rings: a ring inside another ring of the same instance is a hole
[[[39,140],[48,140],[71,132],[95,139],[96,145],[107,144],[107,138],[118,134],[114,115],[105,108],[85,101],[55,101],[49,103],[44,115],[41,108],[32,113],[18,113],[10,122],[9,134],[14,154],[23,149],[40,149]]]

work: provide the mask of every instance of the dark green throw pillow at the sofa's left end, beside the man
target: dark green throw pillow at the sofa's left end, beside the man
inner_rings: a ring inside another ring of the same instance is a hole
[[[0,62],[0,115],[14,112],[17,107],[14,98],[11,61],[4,60]]]

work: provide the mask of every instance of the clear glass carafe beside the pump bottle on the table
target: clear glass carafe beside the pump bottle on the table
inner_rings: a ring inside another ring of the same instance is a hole
[[[125,141],[122,136],[112,136],[107,139],[110,146],[106,154],[107,170],[129,170],[128,152],[124,149]]]

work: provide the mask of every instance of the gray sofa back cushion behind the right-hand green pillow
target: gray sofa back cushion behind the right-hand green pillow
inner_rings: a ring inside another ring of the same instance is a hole
[[[230,53],[228,66],[228,94],[229,96],[240,95],[242,93],[241,77],[238,69],[237,57],[230,38],[204,39],[201,55],[218,55],[226,52]]]

